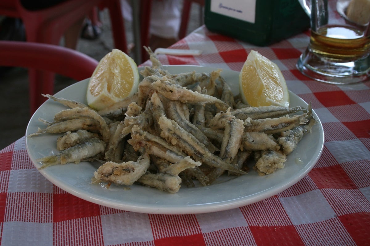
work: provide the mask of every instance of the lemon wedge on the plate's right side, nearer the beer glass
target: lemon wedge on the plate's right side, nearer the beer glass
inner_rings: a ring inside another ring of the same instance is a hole
[[[279,67],[251,51],[239,74],[240,98],[252,107],[289,107],[289,91]]]

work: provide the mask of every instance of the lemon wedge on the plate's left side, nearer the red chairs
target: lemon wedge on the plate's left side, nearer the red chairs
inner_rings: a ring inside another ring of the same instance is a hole
[[[119,49],[105,55],[90,78],[87,104],[102,110],[137,91],[139,71],[134,60]]]

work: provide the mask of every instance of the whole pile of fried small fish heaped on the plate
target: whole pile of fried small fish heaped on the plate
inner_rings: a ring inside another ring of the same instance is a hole
[[[171,74],[150,48],[152,66],[133,96],[95,111],[44,95],[68,107],[46,128],[28,135],[61,134],[59,153],[37,161],[55,164],[98,161],[92,183],[142,184],[169,193],[181,183],[212,184],[222,175],[260,175],[284,167],[286,157],[315,124],[310,104],[250,107],[234,96],[221,69]],[[252,163],[252,164],[250,164]]]

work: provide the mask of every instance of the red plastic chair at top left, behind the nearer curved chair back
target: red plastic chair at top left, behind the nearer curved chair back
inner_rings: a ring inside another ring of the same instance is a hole
[[[20,18],[25,26],[27,42],[58,45],[65,31],[87,16],[98,2],[99,0],[67,0],[53,7],[30,11],[19,0],[0,0],[0,15]],[[30,90],[54,90],[53,73],[30,69],[28,76]],[[30,93],[30,97],[31,112],[47,99],[36,93]]]

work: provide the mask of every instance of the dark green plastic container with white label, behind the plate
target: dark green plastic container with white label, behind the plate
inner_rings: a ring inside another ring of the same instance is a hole
[[[258,46],[299,34],[310,19],[298,0],[206,0],[208,30]]]

